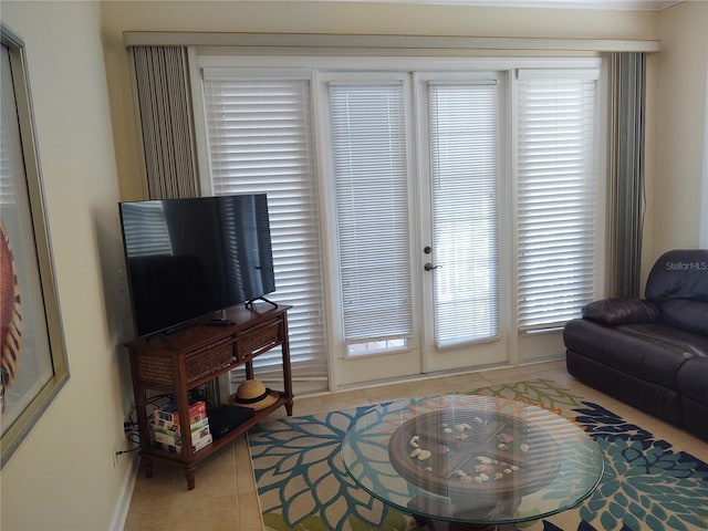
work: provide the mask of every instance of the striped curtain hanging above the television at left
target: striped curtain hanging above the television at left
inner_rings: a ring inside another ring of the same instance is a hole
[[[187,49],[133,46],[149,199],[197,197]]]

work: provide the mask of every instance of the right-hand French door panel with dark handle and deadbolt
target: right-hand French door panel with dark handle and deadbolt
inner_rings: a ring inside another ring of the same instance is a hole
[[[497,73],[418,76],[426,373],[506,361],[503,86]]]

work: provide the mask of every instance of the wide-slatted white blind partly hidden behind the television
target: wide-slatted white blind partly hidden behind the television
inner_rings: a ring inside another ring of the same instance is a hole
[[[288,312],[294,385],[326,389],[317,187],[310,82],[239,80],[205,71],[214,192],[268,194],[277,291]],[[262,381],[282,378],[280,350],[254,361]]]

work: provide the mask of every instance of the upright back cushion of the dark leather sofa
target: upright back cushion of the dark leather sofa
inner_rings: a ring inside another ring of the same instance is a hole
[[[708,250],[664,253],[649,272],[646,298],[655,303],[673,299],[708,302]]]

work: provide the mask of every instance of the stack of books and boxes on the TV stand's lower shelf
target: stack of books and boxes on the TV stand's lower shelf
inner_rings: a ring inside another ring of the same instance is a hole
[[[153,412],[153,425],[155,441],[159,442],[163,450],[170,454],[181,454],[181,428],[179,426],[179,413],[177,404],[170,402]],[[211,444],[212,437],[209,430],[207,405],[205,402],[195,402],[189,405],[189,427],[191,431],[191,447],[198,451]]]

